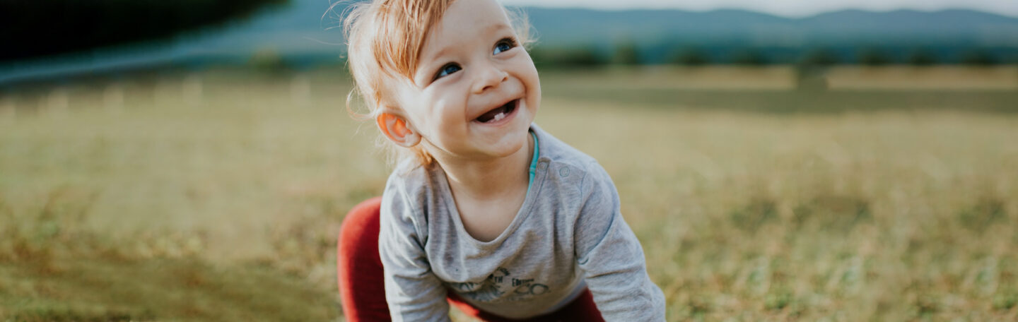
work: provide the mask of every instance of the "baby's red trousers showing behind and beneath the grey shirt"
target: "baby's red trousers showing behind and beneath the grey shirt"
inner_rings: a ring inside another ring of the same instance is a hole
[[[353,207],[339,232],[336,273],[343,314],[350,322],[392,321],[385,301],[385,279],[379,256],[379,210],[382,198],[375,197]],[[449,304],[473,318],[491,321],[605,321],[589,289],[559,311],[525,320],[506,319],[480,311],[450,292]]]

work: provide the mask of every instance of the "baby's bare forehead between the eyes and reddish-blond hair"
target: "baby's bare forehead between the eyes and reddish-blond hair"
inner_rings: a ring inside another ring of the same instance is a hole
[[[464,45],[501,28],[511,29],[509,18],[495,0],[454,1],[429,34],[420,56],[428,60],[449,47]]]

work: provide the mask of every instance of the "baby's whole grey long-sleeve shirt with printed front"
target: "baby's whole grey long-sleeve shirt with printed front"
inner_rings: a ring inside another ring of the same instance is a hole
[[[508,228],[466,233],[439,166],[404,163],[382,194],[379,251],[394,321],[447,321],[447,292],[507,318],[553,312],[583,287],[607,321],[664,321],[611,178],[590,156],[531,125],[538,171]]]

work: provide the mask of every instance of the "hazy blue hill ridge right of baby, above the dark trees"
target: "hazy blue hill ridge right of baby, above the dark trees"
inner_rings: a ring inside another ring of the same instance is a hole
[[[971,10],[871,12],[844,10],[785,18],[743,10],[596,11],[528,8],[533,27],[550,43],[750,42],[756,46],[858,43],[964,43],[1018,47],[1018,18]]]

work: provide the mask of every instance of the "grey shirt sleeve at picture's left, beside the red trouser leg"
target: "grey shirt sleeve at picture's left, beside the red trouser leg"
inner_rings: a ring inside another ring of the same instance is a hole
[[[420,208],[390,184],[382,196],[379,254],[392,320],[449,321],[446,288],[425,253],[427,224]]]

